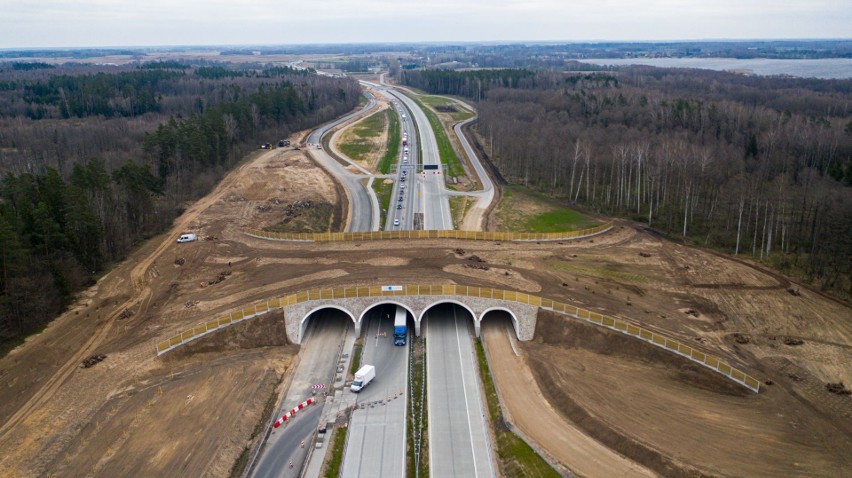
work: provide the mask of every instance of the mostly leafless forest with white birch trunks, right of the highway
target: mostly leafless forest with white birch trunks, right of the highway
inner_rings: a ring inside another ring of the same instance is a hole
[[[512,183],[852,295],[850,80],[652,67],[400,75],[475,101],[485,152]]]

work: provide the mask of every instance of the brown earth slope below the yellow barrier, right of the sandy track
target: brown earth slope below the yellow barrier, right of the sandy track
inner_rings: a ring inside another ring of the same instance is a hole
[[[536,339],[522,348],[563,416],[664,476],[832,476],[852,464],[843,427],[781,390],[752,394],[674,354],[552,313],[539,314]]]

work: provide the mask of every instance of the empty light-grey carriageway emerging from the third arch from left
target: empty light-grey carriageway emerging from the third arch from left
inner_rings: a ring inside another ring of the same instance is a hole
[[[428,312],[426,388],[432,476],[493,477],[491,447],[467,311],[439,305]]]

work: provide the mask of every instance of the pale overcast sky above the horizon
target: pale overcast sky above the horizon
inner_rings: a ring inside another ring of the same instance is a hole
[[[850,0],[0,0],[0,48],[850,37]]]

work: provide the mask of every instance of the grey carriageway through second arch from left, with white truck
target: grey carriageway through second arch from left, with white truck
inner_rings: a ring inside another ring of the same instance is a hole
[[[361,364],[375,366],[376,378],[358,394],[349,421],[344,478],[405,475],[408,345],[393,344],[392,317],[373,309],[363,330]]]

